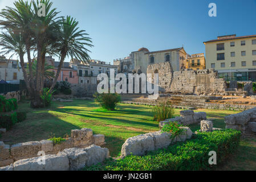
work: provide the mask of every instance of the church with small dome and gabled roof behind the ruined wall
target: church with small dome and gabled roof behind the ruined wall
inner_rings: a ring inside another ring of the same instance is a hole
[[[130,72],[134,70],[147,73],[148,65],[168,61],[172,65],[173,71],[180,71],[185,68],[187,58],[188,54],[183,47],[153,52],[143,47],[138,51],[131,52],[127,59],[114,60],[114,65],[119,65],[120,72],[126,68]]]

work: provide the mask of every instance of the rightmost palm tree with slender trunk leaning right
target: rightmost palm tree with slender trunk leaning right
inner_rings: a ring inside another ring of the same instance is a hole
[[[58,71],[56,73],[54,82],[51,86],[51,91],[54,89],[56,81],[59,77],[60,69],[63,65],[64,59],[68,56],[71,59],[75,58],[82,61],[90,60],[88,55],[89,51],[85,46],[92,47],[91,38],[85,30],[79,30],[78,21],[67,16],[66,19],[62,19],[62,24],[60,27],[60,40],[56,43],[56,47],[60,55],[60,63]]]

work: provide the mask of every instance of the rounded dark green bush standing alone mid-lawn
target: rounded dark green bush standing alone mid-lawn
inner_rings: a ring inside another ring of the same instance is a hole
[[[96,93],[94,94],[95,102],[99,102],[100,106],[107,110],[115,110],[121,97],[117,93]]]

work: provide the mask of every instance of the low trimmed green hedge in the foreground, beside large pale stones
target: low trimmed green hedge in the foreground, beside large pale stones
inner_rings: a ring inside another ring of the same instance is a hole
[[[130,155],[124,159],[107,159],[103,164],[84,168],[90,171],[187,171],[212,169],[208,162],[210,151],[217,152],[217,164],[237,150],[240,131],[221,130],[198,133],[187,142],[178,142],[166,149],[145,156]]]

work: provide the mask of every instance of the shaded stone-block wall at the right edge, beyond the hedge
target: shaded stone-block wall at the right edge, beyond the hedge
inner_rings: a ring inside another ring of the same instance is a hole
[[[235,129],[242,133],[256,133],[256,107],[242,113],[225,117],[226,129]]]

